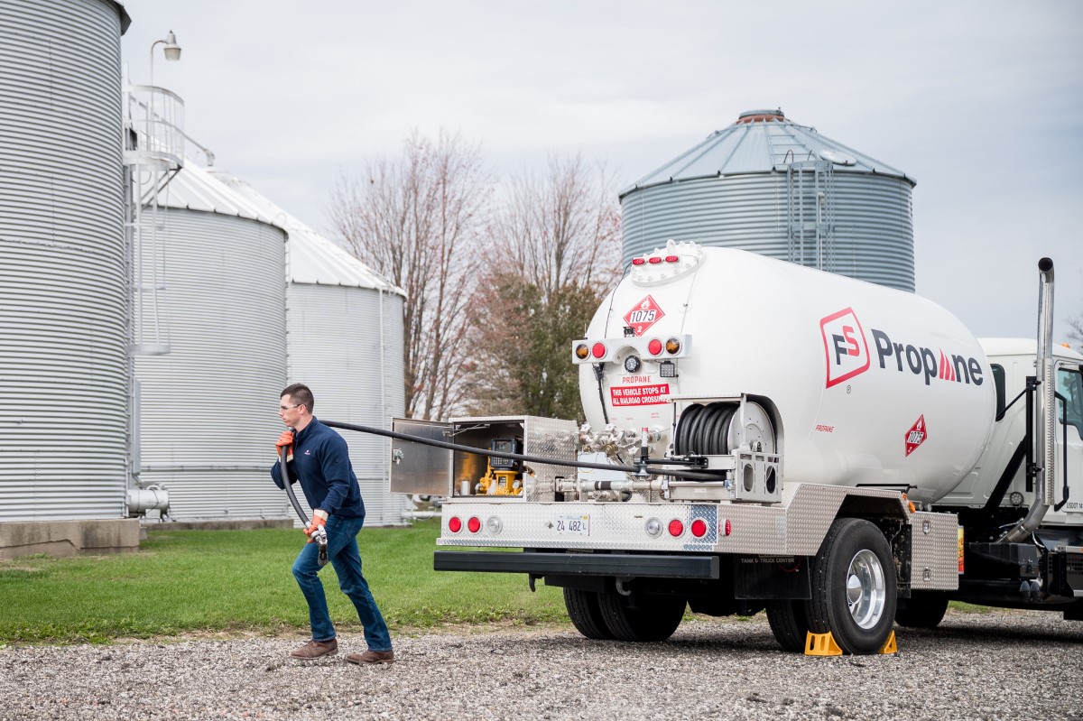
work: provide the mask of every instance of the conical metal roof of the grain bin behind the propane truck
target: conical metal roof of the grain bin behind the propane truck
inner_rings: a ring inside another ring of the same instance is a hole
[[[787,120],[781,109],[748,110],[732,126],[716,130],[692,149],[639,179],[621,197],[652,185],[762,173],[806,160],[828,160],[836,171],[892,175],[914,185],[901,170],[824,137],[815,128]]]

